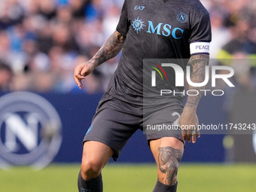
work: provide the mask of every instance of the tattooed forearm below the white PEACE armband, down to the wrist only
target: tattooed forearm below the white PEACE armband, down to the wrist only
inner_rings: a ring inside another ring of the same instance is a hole
[[[190,75],[191,81],[194,83],[202,83],[205,80],[206,69],[205,67],[209,64],[209,55],[195,55],[190,57],[190,65],[192,66],[192,72]],[[203,87],[193,87],[189,86],[189,90],[195,90],[195,93],[190,92],[190,95],[197,96],[188,96],[185,107],[197,108],[197,105],[200,101],[200,98],[203,94],[202,91],[206,86]]]

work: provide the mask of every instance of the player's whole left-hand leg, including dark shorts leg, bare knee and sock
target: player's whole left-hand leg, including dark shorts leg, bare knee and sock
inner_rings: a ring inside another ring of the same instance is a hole
[[[102,168],[110,157],[117,160],[127,140],[139,128],[141,111],[141,108],[108,94],[103,96],[92,125],[84,136],[81,173],[78,177],[80,191],[102,191]]]

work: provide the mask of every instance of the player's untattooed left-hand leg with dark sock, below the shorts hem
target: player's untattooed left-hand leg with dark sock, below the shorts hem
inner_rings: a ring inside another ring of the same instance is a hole
[[[78,190],[103,191],[102,169],[114,151],[101,142],[84,142],[84,151],[81,163],[81,171],[78,175]]]

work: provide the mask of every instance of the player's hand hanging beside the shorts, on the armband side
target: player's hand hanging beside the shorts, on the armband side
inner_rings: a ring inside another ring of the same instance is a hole
[[[196,137],[200,138],[200,131],[197,129],[198,118],[196,114],[196,108],[184,107],[181,117],[178,120],[181,126],[182,137],[184,141],[193,143],[196,142]]]

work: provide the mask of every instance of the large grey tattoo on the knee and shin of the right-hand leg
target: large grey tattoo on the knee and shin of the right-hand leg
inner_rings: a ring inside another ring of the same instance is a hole
[[[175,184],[177,180],[178,163],[182,152],[172,147],[158,148],[158,163],[161,172],[166,173],[165,184]]]

